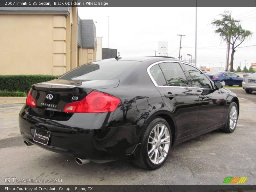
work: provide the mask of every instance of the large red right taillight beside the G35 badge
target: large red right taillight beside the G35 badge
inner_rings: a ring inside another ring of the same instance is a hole
[[[92,91],[84,99],[68,103],[64,112],[71,113],[104,113],[115,111],[120,99],[106,93]]]

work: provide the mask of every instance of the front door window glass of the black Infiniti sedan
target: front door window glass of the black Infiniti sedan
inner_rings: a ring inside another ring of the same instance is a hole
[[[187,64],[183,64],[184,68],[188,71],[188,74],[191,78],[191,83],[193,87],[199,88],[212,88],[211,81],[197,68],[192,67]]]

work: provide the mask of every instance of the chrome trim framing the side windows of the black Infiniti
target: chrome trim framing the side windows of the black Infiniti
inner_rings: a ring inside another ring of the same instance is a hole
[[[148,68],[147,68],[148,76],[150,77],[151,81],[153,82],[153,84],[154,84],[156,87],[175,87],[175,88],[179,87],[179,88],[213,89],[213,88],[201,88],[201,87],[181,87],[181,86],[163,86],[163,85],[158,85],[158,84],[156,83],[155,79],[153,78],[153,76],[152,76],[151,73],[150,73],[150,68],[152,68],[153,66],[155,66],[155,65],[157,65],[157,64],[166,63],[166,62],[168,62],[168,63],[178,63],[178,64],[179,64],[179,63],[183,63],[183,64],[190,65],[190,66],[192,66],[192,67],[194,67],[194,68],[200,70],[198,67],[196,67],[196,66],[194,66],[194,65],[192,65],[192,64],[190,64],[190,63],[183,62],[183,61],[176,61],[176,60],[173,60],[173,61],[172,61],[172,60],[157,61],[157,62],[155,62],[155,63],[150,64],[150,65],[148,66]],[[182,69],[182,68],[181,68],[181,69]],[[183,69],[182,69],[182,71],[183,71]],[[204,76],[206,76],[206,75],[204,75]],[[212,82],[212,79],[210,79],[209,76],[206,76],[206,77],[210,80],[210,82],[211,82],[211,84],[212,84],[212,87],[214,87],[214,84],[213,84],[213,82]]]

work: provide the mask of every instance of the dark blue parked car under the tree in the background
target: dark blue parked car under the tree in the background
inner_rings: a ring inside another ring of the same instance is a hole
[[[236,75],[233,72],[216,72],[208,75],[212,81],[220,81],[223,86],[233,86],[239,85],[242,86],[243,77]]]

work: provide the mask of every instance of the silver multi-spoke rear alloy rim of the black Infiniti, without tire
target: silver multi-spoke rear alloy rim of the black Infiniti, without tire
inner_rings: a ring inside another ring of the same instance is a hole
[[[148,138],[148,157],[153,164],[164,161],[170,148],[170,132],[163,123],[157,124]]]

